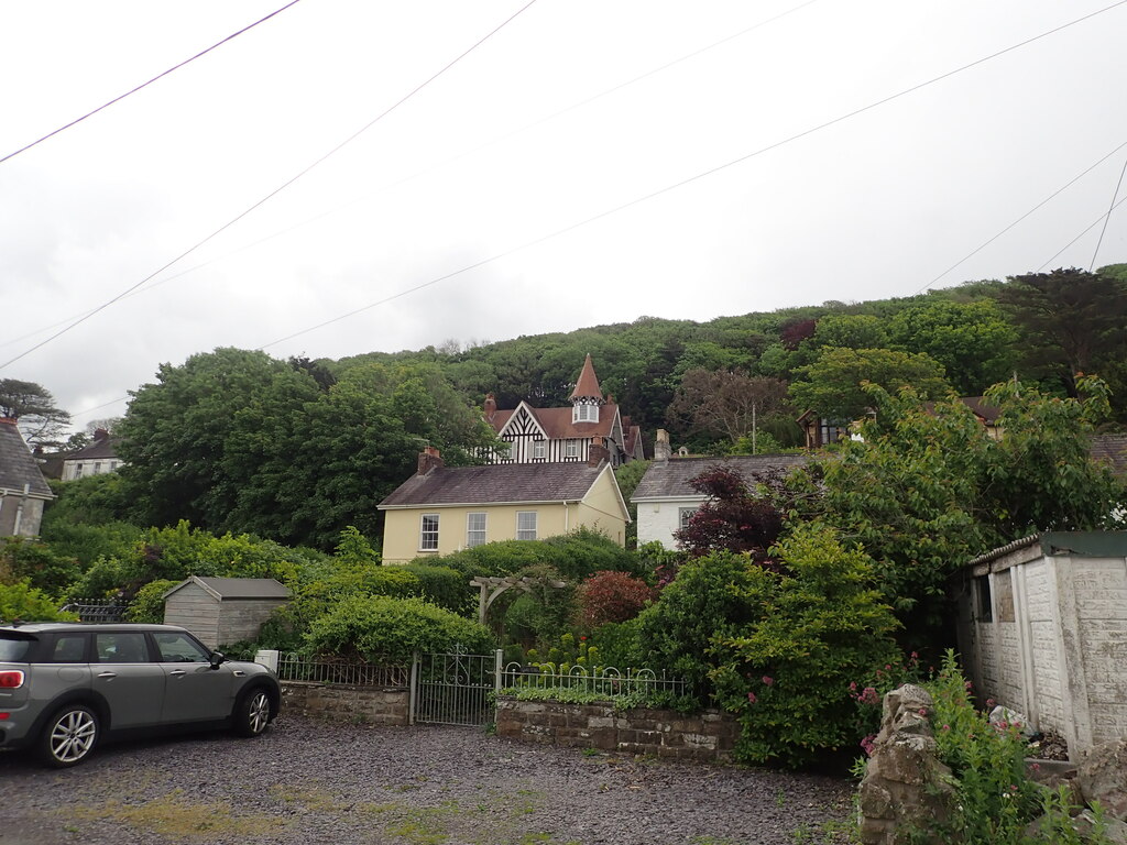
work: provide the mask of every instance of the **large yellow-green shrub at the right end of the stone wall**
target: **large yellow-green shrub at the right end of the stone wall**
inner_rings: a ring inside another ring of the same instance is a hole
[[[734,585],[757,617],[712,639],[709,677],[740,722],[737,758],[802,765],[852,744],[849,684],[896,660],[898,623],[872,561],[824,525],[796,528],[775,553],[788,575],[753,567]]]

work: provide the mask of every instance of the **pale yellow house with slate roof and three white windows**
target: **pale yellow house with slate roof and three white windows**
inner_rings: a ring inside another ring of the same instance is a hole
[[[543,540],[580,526],[625,544],[630,516],[605,454],[586,463],[445,466],[435,448],[380,502],[384,563],[498,540]]]

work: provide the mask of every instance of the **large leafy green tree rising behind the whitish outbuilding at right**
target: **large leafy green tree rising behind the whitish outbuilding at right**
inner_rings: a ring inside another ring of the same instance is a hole
[[[958,401],[925,407],[912,391],[870,388],[876,418],[817,469],[817,516],[860,542],[907,628],[912,648],[942,640],[948,578],[966,561],[1038,530],[1113,527],[1124,491],[1088,453],[1106,409],[1098,381],[1084,401],[1004,383],[987,397],[1004,429],[994,439]]]

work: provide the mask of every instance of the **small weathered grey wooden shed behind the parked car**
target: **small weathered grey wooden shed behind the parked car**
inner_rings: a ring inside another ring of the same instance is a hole
[[[165,594],[165,622],[188,629],[214,649],[221,643],[254,640],[290,595],[290,588],[273,578],[192,576]]]

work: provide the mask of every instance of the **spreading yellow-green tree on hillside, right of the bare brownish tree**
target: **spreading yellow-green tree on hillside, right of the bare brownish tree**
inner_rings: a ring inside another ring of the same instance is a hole
[[[872,402],[864,382],[886,390],[913,388],[926,399],[950,390],[943,366],[934,358],[893,349],[825,349],[798,374],[801,380],[790,385],[795,406],[838,420],[859,419],[869,410]]]

